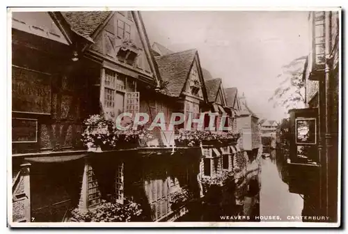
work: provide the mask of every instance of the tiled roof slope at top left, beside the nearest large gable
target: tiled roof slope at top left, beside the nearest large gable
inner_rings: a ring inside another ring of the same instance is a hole
[[[62,12],[62,15],[72,30],[90,38],[111,13],[111,11],[68,11]]]

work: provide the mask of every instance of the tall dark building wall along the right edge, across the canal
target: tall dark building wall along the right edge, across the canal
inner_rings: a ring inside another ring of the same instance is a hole
[[[308,15],[310,54],[303,72],[306,107],[316,111],[318,119],[318,150],[314,159],[318,170],[311,174],[302,173],[306,175],[304,179],[318,183],[318,187],[304,194],[303,215],[322,214],[332,222],[338,221],[339,20],[340,11],[316,11]],[[310,171],[309,164],[305,162],[296,173]]]

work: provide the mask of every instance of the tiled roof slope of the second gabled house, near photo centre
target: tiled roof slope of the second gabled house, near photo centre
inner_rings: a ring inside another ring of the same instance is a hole
[[[178,97],[181,94],[196,53],[196,49],[189,49],[155,58],[161,79],[166,83],[162,93],[172,97]]]

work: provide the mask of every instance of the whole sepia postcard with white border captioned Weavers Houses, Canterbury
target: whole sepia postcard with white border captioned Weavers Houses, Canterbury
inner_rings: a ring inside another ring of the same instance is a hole
[[[341,25],[8,8],[8,226],[339,227]]]

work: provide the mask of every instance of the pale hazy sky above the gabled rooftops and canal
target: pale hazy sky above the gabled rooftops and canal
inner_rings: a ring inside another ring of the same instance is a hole
[[[279,120],[269,98],[281,67],[309,51],[305,11],[143,11],[150,42],[198,49],[200,65],[224,88],[237,87],[259,118]]]

